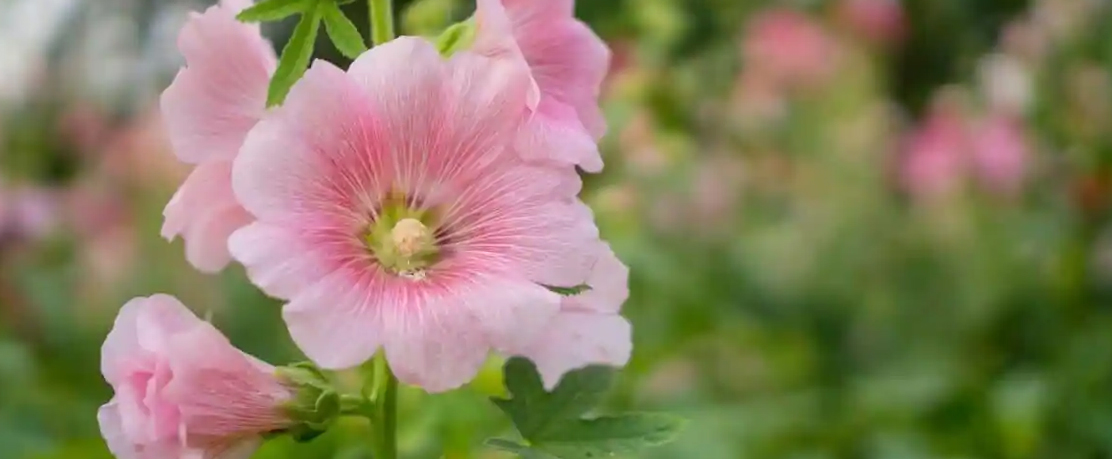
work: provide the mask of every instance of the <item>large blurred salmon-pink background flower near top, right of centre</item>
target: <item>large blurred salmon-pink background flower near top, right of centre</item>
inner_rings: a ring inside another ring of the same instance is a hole
[[[773,8],[749,19],[742,52],[746,71],[766,72],[788,87],[807,87],[830,77],[837,46],[806,13]]]

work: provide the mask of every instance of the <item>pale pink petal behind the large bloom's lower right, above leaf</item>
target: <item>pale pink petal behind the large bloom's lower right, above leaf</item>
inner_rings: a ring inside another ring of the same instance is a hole
[[[545,387],[553,389],[570,370],[626,365],[633,351],[632,333],[622,316],[562,312],[524,356],[537,365]]]

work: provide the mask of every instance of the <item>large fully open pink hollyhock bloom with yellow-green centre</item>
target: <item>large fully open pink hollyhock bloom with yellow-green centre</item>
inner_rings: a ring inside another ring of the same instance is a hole
[[[229,246],[305,353],[347,368],[384,348],[398,378],[463,385],[586,282],[598,231],[574,168],[514,151],[528,77],[513,59],[399,38],[347,73],[318,61],[232,171],[256,222]]]

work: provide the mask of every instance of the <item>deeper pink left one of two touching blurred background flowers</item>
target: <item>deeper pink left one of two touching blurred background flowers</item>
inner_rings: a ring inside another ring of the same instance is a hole
[[[969,134],[955,108],[935,108],[907,138],[903,184],[912,196],[932,198],[961,187],[966,174]]]

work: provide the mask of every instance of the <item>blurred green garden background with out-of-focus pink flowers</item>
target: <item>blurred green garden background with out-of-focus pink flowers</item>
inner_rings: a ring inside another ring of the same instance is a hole
[[[301,359],[240,268],[158,236],[187,168],[157,98],[207,3],[0,0],[4,459],[109,458],[99,347],[133,296]],[[410,34],[473,9],[396,3]],[[584,199],[633,269],[610,406],[691,419],[644,458],[1112,458],[1112,2],[578,3],[614,50]],[[497,368],[406,391],[405,457],[502,457]],[[366,458],[361,429],[257,457]]]

